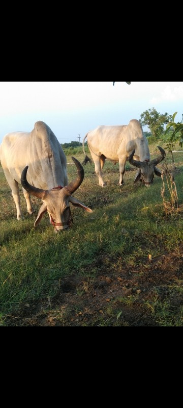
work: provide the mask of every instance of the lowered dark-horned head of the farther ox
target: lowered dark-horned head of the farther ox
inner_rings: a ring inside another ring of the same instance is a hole
[[[135,154],[135,149],[132,151],[131,155],[129,156],[129,163],[135,167],[138,167],[134,183],[141,180],[146,187],[149,187],[150,184],[153,183],[154,172],[156,175],[161,177],[161,171],[158,169],[158,167],[156,167],[156,165],[165,158],[166,153],[162,147],[158,146],[158,148],[161,151],[161,156],[158,156],[157,159],[154,160],[145,160],[144,162],[134,160],[133,156]]]

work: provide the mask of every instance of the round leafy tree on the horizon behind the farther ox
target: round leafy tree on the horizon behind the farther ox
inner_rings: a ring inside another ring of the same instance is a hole
[[[148,109],[141,113],[139,119],[142,126],[149,127],[154,138],[160,137],[164,131],[164,123],[168,123],[170,120],[172,120],[171,115],[168,115],[167,112],[165,112],[164,115],[161,115],[155,108]]]

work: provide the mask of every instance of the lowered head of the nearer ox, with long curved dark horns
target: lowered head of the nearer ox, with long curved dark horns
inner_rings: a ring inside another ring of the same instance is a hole
[[[77,167],[77,177],[73,182],[65,187],[55,186],[51,190],[42,190],[40,188],[32,186],[27,182],[26,173],[28,166],[26,166],[22,171],[22,187],[29,194],[32,194],[43,200],[43,204],[39,210],[34,226],[37,226],[39,224],[42,216],[47,211],[50,217],[50,222],[54,226],[55,233],[66,230],[69,226],[71,226],[72,223],[70,202],[73,204],[73,206],[80,207],[88,213],[93,212],[90,208],[84,206],[84,204],[82,204],[71,195],[78,189],[84,179],[84,170],[81,166],[81,163],[79,163],[79,161],[74,157],[72,157],[72,160]]]

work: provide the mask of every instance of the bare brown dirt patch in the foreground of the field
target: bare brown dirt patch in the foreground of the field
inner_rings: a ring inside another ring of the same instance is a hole
[[[54,297],[22,304],[16,314],[7,317],[6,324],[161,326],[156,305],[163,305],[168,297],[169,311],[176,314],[183,304],[182,291],[174,290],[174,287],[182,288],[182,250],[181,245],[179,253],[165,253],[151,262],[139,257],[135,267],[127,267],[119,259],[115,269],[113,260],[106,268],[104,259],[99,257],[93,265],[94,268],[99,266],[95,277],[83,278],[78,276],[78,271],[63,281],[55,281],[57,293]],[[91,268],[92,265],[90,271]]]

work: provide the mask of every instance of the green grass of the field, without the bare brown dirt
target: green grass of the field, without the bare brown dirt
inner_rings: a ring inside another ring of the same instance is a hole
[[[158,153],[156,146],[150,146],[150,151],[156,155]],[[174,157],[178,169],[175,181],[179,203],[182,205],[183,156],[182,153],[177,153]],[[76,158],[80,162],[83,161],[81,153],[76,155]],[[67,161],[72,163],[70,156],[67,156]],[[168,155],[167,163],[171,163]],[[161,169],[161,165],[159,168]],[[127,169],[130,169],[129,164]],[[8,318],[11,320],[11,316],[16,317],[20,310],[26,309],[26,304],[32,305],[49,299],[48,310],[51,316],[49,321],[52,322],[50,325],[54,325],[55,321],[60,325],[70,325],[68,316],[70,313],[79,313],[77,308],[73,309],[68,305],[67,309],[66,305],[66,308],[61,310],[54,303],[60,284],[65,279],[75,276],[82,282],[88,282],[88,285],[94,285],[98,276],[105,273],[106,276],[114,278],[125,268],[127,271],[128,268],[134,271],[137,269],[137,272],[133,273],[138,276],[141,273],[141,276],[144,276],[150,267],[145,261],[149,253],[153,259],[164,254],[166,257],[173,254],[173,257],[181,259],[182,212],[172,213],[169,218],[165,218],[161,198],[162,181],[159,177],[155,176],[154,184],[150,188],[145,188],[140,184],[133,184],[135,171],[126,171],[124,176],[126,184],[119,187],[118,165],[114,166],[106,161],[103,178],[107,186],[102,189],[98,184],[94,164],[87,164],[84,171],[84,181],[74,196],[92,208],[93,214],[71,206],[73,227],[70,231],[57,235],[49,225],[48,215],[45,215],[40,225],[34,228],[36,215],[29,216],[26,213],[22,192],[20,195],[24,219],[16,220],[15,203],[10,187],[4,173],[0,171],[0,324],[13,324],[12,321],[9,323]],[[76,175],[74,164],[68,164],[68,175],[69,180],[74,179]],[[168,191],[166,197],[168,200]],[[37,214],[41,201],[35,197],[32,201]],[[143,304],[145,313],[149,314],[150,319],[157,325],[183,325],[181,305],[178,308],[176,306],[171,308],[171,299],[175,296],[175,291],[177,293],[175,288],[178,287],[179,290],[182,288],[180,277],[179,284],[176,285],[174,275],[172,282],[168,278],[169,289],[163,299],[155,286],[154,300],[149,300],[148,296],[146,298],[144,295],[141,301],[140,307]],[[162,285],[165,285],[165,282]],[[76,287],[74,292],[74,296],[81,300],[80,309],[82,296],[87,293],[89,295],[89,289],[87,292],[86,287],[86,284],[84,289]],[[179,292],[179,297],[181,296],[182,292]],[[90,301],[93,302],[92,297]],[[136,294],[124,297],[118,293],[111,303],[110,315],[109,310],[104,308],[102,316],[99,314],[92,322],[89,320],[89,324],[83,322],[81,325],[131,325],[128,316],[124,315],[120,308],[121,305],[124,308],[131,308],[131,304],[134,305],[136,302],[139,304]],[[43,314],[47,316],[48,310],[44,309]]]

